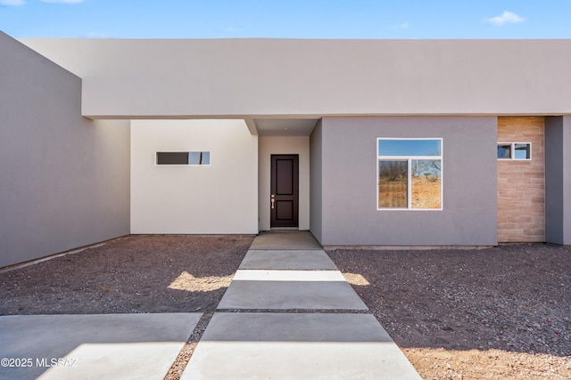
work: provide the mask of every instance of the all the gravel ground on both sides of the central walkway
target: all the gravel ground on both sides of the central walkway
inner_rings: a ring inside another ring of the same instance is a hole
[[[131,236],[0,273],[0,315],[204,313],[251,236]],[[329,251],[425,379],[571,379],[571,248]]]

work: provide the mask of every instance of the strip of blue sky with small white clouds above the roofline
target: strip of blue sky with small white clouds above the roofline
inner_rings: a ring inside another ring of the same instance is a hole
[[[571,38],[571,0],[0,0],[14,37]]]

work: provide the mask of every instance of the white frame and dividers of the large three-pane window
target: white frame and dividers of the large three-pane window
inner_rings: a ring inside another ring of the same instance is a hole
[[[439,156],[383,156],[379,153],[379,141],[393,140],[393,141],[427,141],[437,140],[440,141],[440,155]],[[442,211],[444,206],[444,151],[443,151],[443,138],[442,137],[377,137],[377,211]],[[439,208],[412,208],[412,161],[413,160],[440,160],[440,207]],[[380,161],[406,161],[407,162],[407,206],[406,207],[381,207],[379,205],[380,198],[380,180],[379,180],[379,162]]]

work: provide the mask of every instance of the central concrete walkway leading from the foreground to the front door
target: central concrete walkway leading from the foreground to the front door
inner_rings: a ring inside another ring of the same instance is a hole
[[[308,232],[254,239],[218,311],[183,380],[420,379]]]

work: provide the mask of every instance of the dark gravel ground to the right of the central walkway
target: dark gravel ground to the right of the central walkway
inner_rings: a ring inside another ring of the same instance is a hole
[[[571,248],[328,254],[425,379],[571,379]]]

